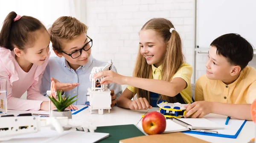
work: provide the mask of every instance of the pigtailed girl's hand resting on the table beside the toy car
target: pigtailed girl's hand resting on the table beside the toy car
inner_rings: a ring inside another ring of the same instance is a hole
[[[129,105],[129,108],[132,110],[146,110],[146,109],[151,109],[152,106],[148,103],[146,98],[137,98],[134,101],[131,102]]]

